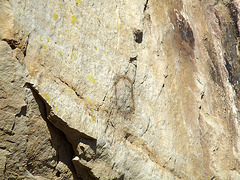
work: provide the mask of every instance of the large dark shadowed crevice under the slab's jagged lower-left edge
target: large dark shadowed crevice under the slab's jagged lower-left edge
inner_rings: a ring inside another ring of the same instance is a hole
[[[68,142],[71,146],[72,155],[71,157],[68,157],[71,161],[66,162],[65,160],[64,162],[64,159],[66,159],[66,157],[61,157],[59,154],[58,154],[59,157],[57,159],[59,159],[59,161],[62,161],[68,166],[68,168],[71,170],[74,176],[74,179],[79,179],[79,178],[81,179],[81,177],[77,177],[78,173],[72,162],[72,159],[76,156],[75,154],[76,152],[74,150],[76,150],[79,143],[83,143],[88,145],[96,154],[96,139],[88,136],[87,134],[79,132],[73,128],[70,128],[67,125],[67,123],[65,123],[62,119],[60,119],[55,114],[53,114],[53,112],[51,111],[50,105],[44,100],[44,98],[38,93],[38,91],[30,83],[26,83],[25,86],[31,89],[33,96],[36,102],[38,103],[40,113],[43,119],[47,122],[50,133],[52,133],[52,131],[59,131],[62,134],[62,136],[65,137],[64,139],[66,140],[66,142]],[[58,149],[56,149],[56,151],[57,150]],[[81,157],[81,158],[84,159],[84,157]],[[84,172],[89,174],[89,172],[87,171],[84,171]]]

